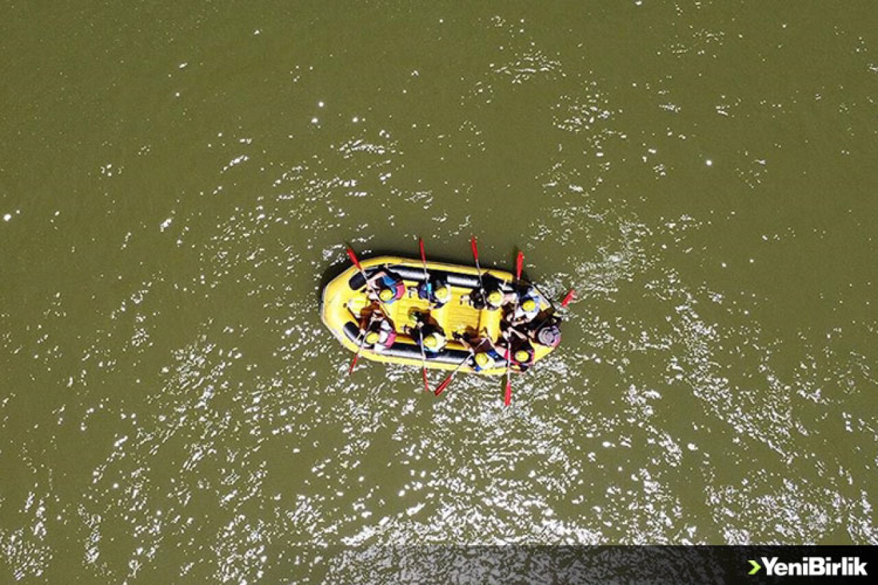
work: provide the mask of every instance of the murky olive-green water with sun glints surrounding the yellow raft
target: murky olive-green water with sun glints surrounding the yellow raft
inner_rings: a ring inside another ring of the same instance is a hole
[[[876,31],[867,2],[7,7],[0,581],[878,543]],[[579,292],[513,408],[346,375],[324,272],[417,235]]]

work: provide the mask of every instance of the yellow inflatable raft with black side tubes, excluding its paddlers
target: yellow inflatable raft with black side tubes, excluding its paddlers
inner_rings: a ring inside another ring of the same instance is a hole
[[[451,299],[443,307],[430,310],[428,300],[421,299],[418,295],[418,286],[424,282],[424,267],[420,260],[402,258],[399,256],[378,256],[363,260],[360,263],[363,271],[372,278],[373,274],[381,270],[392,271],[402,278],[406,286],[403,297],[392,304],[385,305],[388,316],[393,322],[397,337],[388,349],[376,351],[369,346],[363,347],[360,356],[385,364],[414,365],[421,367],[421,349],[417,343],[407,336],[403,327],[413,325],[411,315],[416,312],[428,314],[429,319],[443,329],[448,338],[445,348],[435,354],[427,354],[426,364],[429,368],[441,370],[454,370],[464,359],[469,357],[470,351],[463,343],[454,339],[454,334],[480,333],[496,341],[500,337],[500,320],[504,309],[489,310],[478,309],[468,302],[468,295],[479,290],[479,271],[471,266],[457,264],[444,264],[428,262],[427,271],[429,278],[437,276],[443,278],[450,285]],[[493,269],[482,270],[482,279],[486,282],[493,279],[493,284],[500,287],[503,293],[512,293],[512,274],[506,271]],[[519,286],[527,285],[524,280]],[[350,266],[342,274],[335,277],[323,289],[320,317],[339,342],[349,350],[356,353],[360,348],[363,312],[371,306],[371,300],[367,297],[367,287],[363,275],[356,266]],[[551,314],[551,303],[541,293],[535,291],[540,315]],[[545,358],[554,349],[539,343],[533,344],[534,362]],[[515,368],[515,365],[514,365]],[[491,369],[476,371],[473,360],[467,360],[460,367],[462,372],[475,372],[480,374],[502,374],[507,371],[505,359],[494,361]]]

